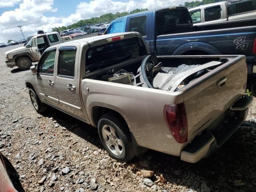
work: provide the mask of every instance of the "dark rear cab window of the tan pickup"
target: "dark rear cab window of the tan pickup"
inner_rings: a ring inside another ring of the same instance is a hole
[[[95,46],[88,49],[86,52],[86,74],[90,74],[146,54],[147,50],[145,44],[138,37]]]

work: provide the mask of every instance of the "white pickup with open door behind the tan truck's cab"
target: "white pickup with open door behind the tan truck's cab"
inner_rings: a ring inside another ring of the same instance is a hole
[[[37,34],[33,36],[26,45],[10,50],[5,53],[6,66],[13,68],[18,66],[20,70],[29,69],[32,66],[32,62],[38,62],[44,50],[48,47],[68,42],[71,40],[77,40],[80,38],[86,38],[90,36],[97,36],[98,34],[84,34],[76,36],[74,38],[68,36],[68,38],[62,39],[58,32],[50,32],[46,34]]]

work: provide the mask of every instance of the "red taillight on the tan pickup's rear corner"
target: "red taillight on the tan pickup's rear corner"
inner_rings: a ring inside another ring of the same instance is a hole
[[[188,121],[184,103],[164,106],[164,115],[173,137],[178,143],[188,141]]]

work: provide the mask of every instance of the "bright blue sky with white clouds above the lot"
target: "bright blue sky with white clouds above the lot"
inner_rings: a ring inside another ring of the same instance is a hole
[[[106,13],[178,6],[185,1],[192,0],[0,0],[0,42],[22,39],[19,25],[28,37],[37,30],[51,32]]]

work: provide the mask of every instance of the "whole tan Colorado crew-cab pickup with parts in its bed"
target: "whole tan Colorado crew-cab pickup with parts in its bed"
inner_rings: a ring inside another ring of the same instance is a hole
[[[37,112],[50,105],[98,127],[116,160],[152,149],[195,163],[245,120],[246,70],[245,56],[156,57],[127,32],[52,46],[25,82]]]

